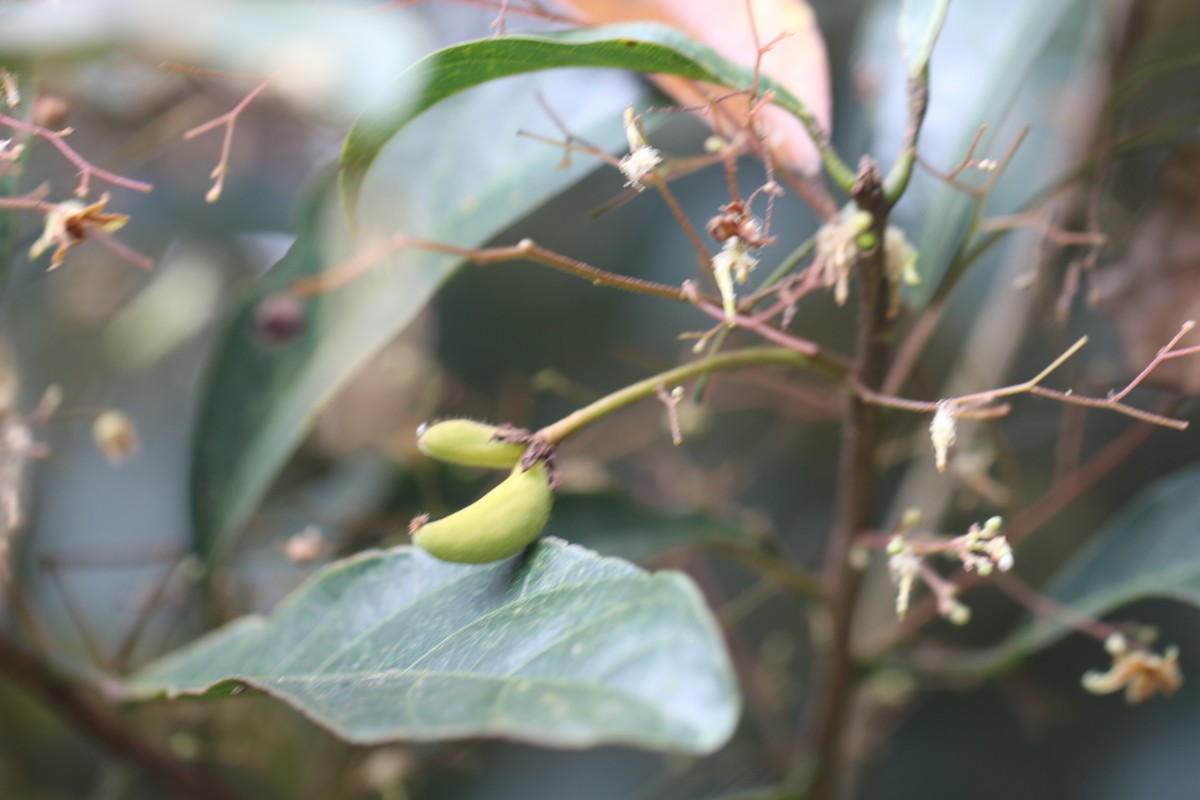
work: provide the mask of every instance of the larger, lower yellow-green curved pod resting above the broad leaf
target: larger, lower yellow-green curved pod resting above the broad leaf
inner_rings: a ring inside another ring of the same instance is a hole
[[[516,555],[538,539],[550,519],[553,493],[541,462],[521,467],[499,486],[449,517],[413,531],[413,543],[458,564],[487,564]]]

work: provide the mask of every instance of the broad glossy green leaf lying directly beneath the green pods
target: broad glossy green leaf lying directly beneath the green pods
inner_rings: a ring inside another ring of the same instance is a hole
[[[134,697],[248,685],[356,742],[503,736],[706,753],[740,700],[692,583],[547,539],[444,564],[412,547],[334,564],[270,619],[148,666]]]

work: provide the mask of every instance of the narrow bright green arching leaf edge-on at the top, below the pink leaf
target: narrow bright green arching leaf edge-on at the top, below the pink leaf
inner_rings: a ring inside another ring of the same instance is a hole
[[[342,191],[356,207],[359,188],[383,146],[397,131],[424,110],[464,89],[508,76],[559,67],[612,67],[644,73],[666,73],[706,80],[731,89],[749,89],[754,72],[736,65],[709,47],[665,25],[636,23],[568,30],[538,36],[503,36],[456,44],[426,56],[402,76],[425,88],[416,102],[392,116],[378,114],[355,122],[342,149]],[[815,126],[812,115],[794,95],[767,77],[762,90],[774,92],[773,102],[802,121]],[[840,186],[853,174],[824,146],[822,158]]]

